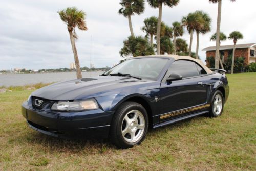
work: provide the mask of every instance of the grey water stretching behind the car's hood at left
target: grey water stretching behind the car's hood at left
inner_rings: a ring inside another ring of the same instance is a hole
[[[92,77],[103,72],[92,72]],[[83,78],[90,77],[90,72],[82,72]],[[36,83],[52,83],[76,79],[76,72],[35,73],[35,74],[0,74],[0,86],[23,86]]]

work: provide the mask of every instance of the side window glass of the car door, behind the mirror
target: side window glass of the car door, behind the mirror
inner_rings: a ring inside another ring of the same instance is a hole
[[[200,76],[195,62],[187,60],[174,61],[168,70],[168,75],[177,73],[183,78]]]

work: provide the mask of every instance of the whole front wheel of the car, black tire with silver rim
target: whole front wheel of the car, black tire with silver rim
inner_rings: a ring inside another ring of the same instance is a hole
[[[136,102],[124,102],[112,119],[110,137],[122,149],[140,144],[146,136],[148,116],[145,108]]]

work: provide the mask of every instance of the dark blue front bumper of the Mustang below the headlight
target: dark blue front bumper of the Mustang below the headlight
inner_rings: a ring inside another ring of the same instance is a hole
[[[22,115],[27,119],[30,128],[61,138],[81,137],[83,133],[106,138],[114,112],[104,112],[101,109],[58,112],[50,109],[33,109],[27,102],[22,105]]]

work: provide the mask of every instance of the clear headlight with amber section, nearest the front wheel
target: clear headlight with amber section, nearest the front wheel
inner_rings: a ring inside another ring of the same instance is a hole
[[[84,101],[58,101],[52,105],[52,110],[59,111],[82,111],[82,110],[94,110],[99,106],[95,99],[88,99]]]

